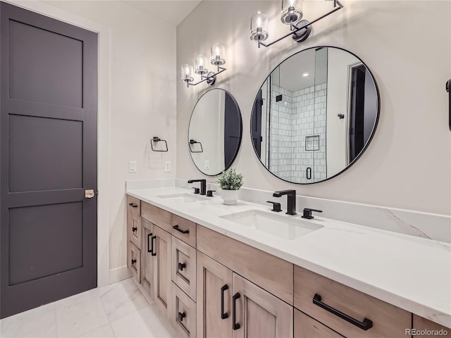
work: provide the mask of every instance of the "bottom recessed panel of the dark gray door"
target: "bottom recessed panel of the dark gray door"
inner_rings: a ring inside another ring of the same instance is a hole
[[[81,268],[82,203],[11,208],[9,236],[10,286]]]

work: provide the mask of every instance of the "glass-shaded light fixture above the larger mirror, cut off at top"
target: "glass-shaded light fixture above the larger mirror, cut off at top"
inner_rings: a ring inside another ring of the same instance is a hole
[[[326,0],[330,1],[330,0]],[[300,6],[299,0],[282,0],[282,12],[280,14],[280,20],[285,25],[290,25],[290,32],[275,41],[264,44],[264,40],[268,38],[268,18],[265,13],[257,12],[252,15],[251,18],[251,34],[250,38],[252,41],[258,42],[259,48],[260,46],[271,46],[271,44],[275,44],[285,37],[292,36],[293,40],[296,42],[303,42],[309,37],[311,33],[311,25],[316,23],[326,16],[335,13],[340,10],[344,6],[338,0],[333,0],[333,9],[328,11],[328,13],[321,15],[319,18],[309,22],[308,20],[302,20],[302,8]]]

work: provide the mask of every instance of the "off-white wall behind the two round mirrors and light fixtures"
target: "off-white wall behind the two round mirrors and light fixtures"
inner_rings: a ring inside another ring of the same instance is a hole
[[[450,215],[451,132],[447,126],[445,82],[451,78],[450,1],[342,1],[345,8],[314,25],[302,44],[285,39],[268,49],[249,40],[252,13],[268,14],[272,41],[287,31],[278,18],[280,1],[202,1],[178,25],[177,64],[226,46],[226,72],[215,87],[228,90],[240,106],[243,137],[233,168],[245,175],[245,187],[297,189],[298,194],[407,208]],[[304,1],[314,19],[332,3]],[[425,29],[425,27],[427,27]],[[311,46],[339,46],[357,54],[371,69],[381,94],[381,118],[365,154],[340,176],[310,185],[273,177],[254,154],[249,121],[259,87],[273,68]],[[178,76],[179,77],[179,76]],[[190,111],[208,86],[177,84],[178,144],[187,136]],[[206,178],[178,147],[178,177]]]

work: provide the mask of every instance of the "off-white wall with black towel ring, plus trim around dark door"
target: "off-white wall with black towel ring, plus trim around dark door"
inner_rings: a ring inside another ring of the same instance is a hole
[[[109,265],[115,282],[128,275],[125,180],[175,177],[175,27],[123,1],[11,2],[99,32],[99,68],[108,65],[99,73],[99,242],[109,237],[99,269]],[[167,140],[168,153],[150,150],[153,136]],[[164,160],[172,173],[163,173]],[[128,161],[137,161],[136,174]]]

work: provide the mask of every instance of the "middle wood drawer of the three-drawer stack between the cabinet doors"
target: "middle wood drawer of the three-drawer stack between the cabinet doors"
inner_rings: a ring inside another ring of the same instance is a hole
[[[172,237],[172,280],[196,300],[196,249]]]

